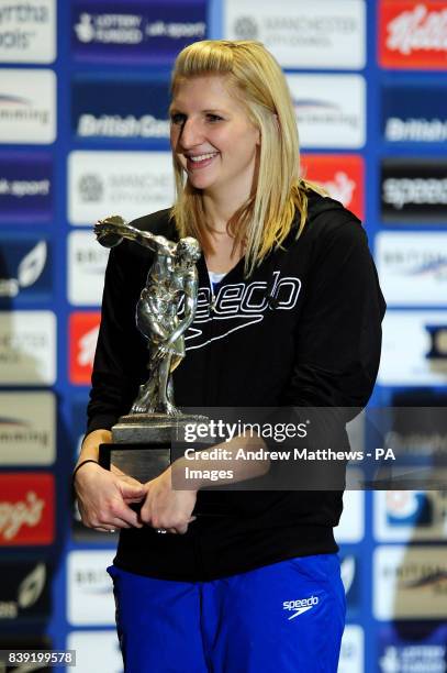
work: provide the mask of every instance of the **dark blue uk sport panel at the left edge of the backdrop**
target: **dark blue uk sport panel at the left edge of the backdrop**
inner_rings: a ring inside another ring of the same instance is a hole
[[[0,222],[48,222],[53,216],[49,154],[0,154]]]

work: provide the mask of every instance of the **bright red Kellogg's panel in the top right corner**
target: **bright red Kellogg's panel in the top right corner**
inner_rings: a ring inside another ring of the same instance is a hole
[[[447,2],[383,0],[379,25],[380,65],[392,68],[445,68]]]

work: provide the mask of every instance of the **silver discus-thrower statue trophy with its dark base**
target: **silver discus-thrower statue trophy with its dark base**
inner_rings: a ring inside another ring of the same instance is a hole
[[[101,245],[123,239],[154,253],[136,306],[136,326],[147,340],[148,372],[130,413],[112,428],[112,443],[101,444],[100,463],[113,465],[141,482],[158,476],[171,462],[171,443],[181,441],[188,423],[206,417],[183,413],[174,400],[172,372],[185,357],[185,332],[194,319],[198,295],[195,262],[201,255],[190,236],[178,243],[127,224],[121,216],[99,220],[94,233]]]

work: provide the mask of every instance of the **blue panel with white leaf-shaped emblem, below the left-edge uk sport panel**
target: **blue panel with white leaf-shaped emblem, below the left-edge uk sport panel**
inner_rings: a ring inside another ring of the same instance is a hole
[[[46,238],[0,231],[0,307],[49,301],[52,268]]]

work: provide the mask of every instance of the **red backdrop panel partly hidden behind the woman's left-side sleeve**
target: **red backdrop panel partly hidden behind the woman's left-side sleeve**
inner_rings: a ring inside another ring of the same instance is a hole
[[[100,311],[78,311],[69,319],[69,379],[90,385],[101,321]]]

